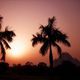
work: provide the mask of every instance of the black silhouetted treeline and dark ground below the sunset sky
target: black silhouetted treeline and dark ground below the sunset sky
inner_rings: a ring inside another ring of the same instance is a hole
[[[50,68],[45,63],[38,66],[27,63],[9,67],[7,63],[0,63],[0,80],[80,80],[80,66],[64,61],[62,64]]]

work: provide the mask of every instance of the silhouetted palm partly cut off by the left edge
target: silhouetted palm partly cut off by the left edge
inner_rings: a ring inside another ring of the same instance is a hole
[[[11,49],[9,46],[9,42],[12,42],[13,37],[15,36],[15,33],[13,31],[9,31],[8,27],[5,28],[5,31],[2,31],[2,19],[3,17],[0,17],[0,48],[1,48],[1,53],[2,53],[2,58],[1,60],[5,62],[5,54],[6,54],[6,49]]]

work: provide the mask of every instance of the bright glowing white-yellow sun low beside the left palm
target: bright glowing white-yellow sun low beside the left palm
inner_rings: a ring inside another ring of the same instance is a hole
[[[14,41],[10,44],[10,46],[10,56],[20,58],[24,55],[25,44],[23,43],[23,41]]]

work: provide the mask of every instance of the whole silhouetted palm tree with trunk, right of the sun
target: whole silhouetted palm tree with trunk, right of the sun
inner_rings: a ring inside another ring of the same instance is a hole
[[[53,16],[52,18],[48,19],[48,25],[39,27],[40,32],[36,35],[33,35],[32,38],[32,46],[37,45],[38,43],[42,43],[40,48],[40,53],[44,56],[48,49],[49,49],[49,62],[50,67],[53,67],[53,55],[52,55],[52,46],[56,47],[58,50],[59,58],[61,58],[61,48],[59,46],[59,42],[65,44],[66,46],[70,47],[70,43],[67,40],[68,36],[62,33],[58,28],[55,26],[56,18]]]

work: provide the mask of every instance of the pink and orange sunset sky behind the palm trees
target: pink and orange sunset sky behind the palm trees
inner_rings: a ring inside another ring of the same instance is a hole
[[[40,44],[32,47],[32,34],[39,31],[39,26],[47,25],[50,17],[56,17],[56,27],[69,36],[71,47],[61,44],[63,52],[69,52],[80,60],[80,0],[0,0],[0,15],[3,19],[3,29],[9,26],[16,37],[7,50],[6,62],[10,64],[34,64],[46,62],[49,64],[49,53],[42,56],[39,53]],[[54,59],[58,57],[53,48]]]

